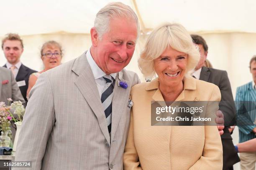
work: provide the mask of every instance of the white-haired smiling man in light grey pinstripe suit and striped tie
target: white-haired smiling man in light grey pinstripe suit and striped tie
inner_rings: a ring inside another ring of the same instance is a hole
[[[92,46],[38,78],[30,93],[15,160],[29,170],[121,170],[136,73],[123,69],[139,35],[131,7],[110,3],[90,30]]]

